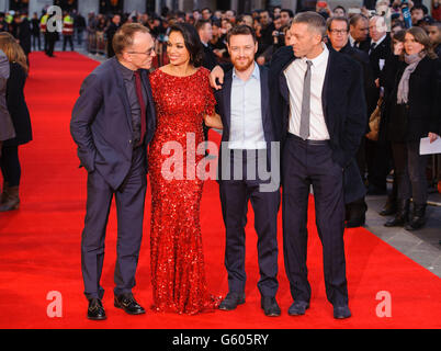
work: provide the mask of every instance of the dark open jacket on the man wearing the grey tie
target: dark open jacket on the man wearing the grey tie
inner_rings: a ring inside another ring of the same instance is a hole
[[[274,54],[270,66],[270,99],[275,138],[287,136],[290,91],[284,70],[296,59],[286,46]],[[329,50],[323,91],[323,110],[330,136],[332,158],[344,169],[344,200],[351,203],[364,196],[365,188],[355,162],[355,154],[366,126],[366,102],[360,65],[350,57]],[[282,165],[283,167],[283,165]]]

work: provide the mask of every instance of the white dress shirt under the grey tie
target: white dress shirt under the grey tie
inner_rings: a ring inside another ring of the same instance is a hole
[[[328,67],[329,50],[323,44],[323,53],[316,58],[310,59],[310,118],[309,118],[309,140],[329,140],[329,132],[326,126],[323,111],[321,94],[325,83],[326,69]],[[290,90],[290,122],[289,132],[299,136],[303,84],[307,69],[307,58],[295,59],[285,70],[287,88]]]

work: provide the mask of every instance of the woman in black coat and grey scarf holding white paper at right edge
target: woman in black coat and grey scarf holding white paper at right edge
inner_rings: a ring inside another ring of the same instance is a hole
[[[427,33],[409,29],[400,59],[391,60],[393,71],[385,86],[392,92],[385,105],[387,139],[392,143],[398,184],[398,211],[385,226],[421,228],[426,223],[428,156],[419,155],[420,139],[441,134],[441,61],[431,49]],[[414,212],[410,215],[410,197]]]

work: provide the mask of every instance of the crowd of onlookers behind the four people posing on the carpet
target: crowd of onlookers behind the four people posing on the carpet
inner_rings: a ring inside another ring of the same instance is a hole
[[[344,4],[343,1],[342,4]],[[341,50],[342,47],[338,47],[337,43],[347,35],[343,45],[350,47],[350,53],[348,52],[348,54],[359,60],[362,66],[366,64],[363,66],[364,77],[370,78],[365,78],[365,93],[369,115],[372,115],[372,118],[371,125],[366,128],[369,133],[362,143],[358,161],[366,183],[368,194],[387,194],[387,179],[391,173],[395,174],[394,188],[388,194],[388,201],[382,211],[382,215],[398,214],[403,218],[408,217],[410,216],[408,199],[404,201],[403,193],[398,191],[397,178],[400,178],[402,184],[405,181],[420,184],[423,172],[423,178],[429,180],[429,185],[438,182],[438,188],[441,192],[441,162],[439,158],[437,161],[436,157],[432,158],[432,162],[428,162],[428,160],[420,162],[419,166],[420,168],[423,167],[423,170],[420,170],[418,180],[404,180],[403,174],[407,172],[407,168],[412,169],[411,165],[406,163],[408,162],[406,156],[408,150],[393,150],[393,140],[386,133],[387,125],[377,123],[376,134],[373,133],[375,131],[372,131],[372,128],[375,123],[375,112],[377,112],[376,115],[384,113],[397,114],[395,107],[391,112],[391,109],[387,110],[386,106],[387,93],[392,93],[395,89],[394,77],[391,78],[388,75],[391,75],[391,71],[396,71],[396,68],[391,68],[396,65],[394,57],[404,56],[403,45],[406,33],[410,31],[409,27],[422,29],[420,32],[417,31],[417,34],[412,32],[411,35],[420,35],[423,41],[427,37],[427,47],[425,49],[430,53],[431,58],[441,56],[441,0],[434,0],[430,11],[418,0],[378,0],[373,9],[362,8],[358,9],[358,11],[353,11],[354,9],[348,11],[349,9],[343,5],[337,5],[331,9],[326,1],[318,1],[315,10],[327,19],[328,23],[332,23],[331,19],[346,19],[347,29],[335,30],[331,27],[332,24],[329,24],[328,37],[325,41],[329,46]],[[407,13],[409,16],[407,16]],[[294,15],[294,11],[280,7],[255,10],[250,13],[236,13],[234,10],[213,11],[208,8],[196,9],[185,13],[163,8],[160,14],[138,12],[90,13],[87,19],[77,13],[77,11],[71,11],[70,13],[65,12],[63,15],[63,32],[49,33],[46,27],[49,16],[44,11],[42,15],[34,13],[31,19],[27,13],[14,13],[13,15],[11,13],[0,13],[0,31],[10,32],[19,41],[26,56],[32,49],[44,49],[48,56],[53,57],[55,43],[63,37],[64,50],[68,48],[68,45],[74,50],[76,47],[74,45],[75,41],[77,47],[81,47],[82,50],[112,57],[114,52],[111,43],[116,31],[124,23],[137,22],[148,27],[156,37],[156,52],[158,55],[154,66],[159,67],[168,63],[166,43],[170,26],[174,23],[186,22],[196,27],[201,42],[204,44],[204,66],[213,69],[216,65],[229,60],[226,36],[228,31],[237,24],[247,24],[255,29],[259,43],[256,60],[261,65],[269,64],[273,53],[290,43],[289,30]],[[378,19],[385,19],[383,26],[377,25]],[[335,33],[332,31],[338,32],[335,41],[332,41],[332,33]],[[400,50],[398,50],[397,46],[400,47]],[[439,72],[434,71],[432,73],[437,76]],[[372,80],[371,87],[369,80]],[[421,87],[430,92],[430,87]],[[384,124],[386,118],[382,120]],[[402,156],[398,156],[398,154]],[[400,158],[397,159],[398,157]],[[429,165],[427,166],[427,163]],[[399,166],[397,167],[397,165]],[[428,171],[427,176],[426,171]],[[414,188],[417,186],[414,183]],[[427,188],[426,182],[422,182],[422,184]],[[420,194],[419,196],[427,201],[427,195]],[[361,200],[359,204],[354,204],[354,208],[358,208],[355,211],[358,214],[352,226],[364,224],[364,215],[360,215],[360,213],[364,213],[365,207],[364,200]],[[420,213],[420,217],[425,217],[423,213]],[[389,222],[388,225],[399,225],[403,218],[396,217],[396,220]],[[349,218],[350,220],[351,218]],[[415,228],[422,225],[423,218]]]

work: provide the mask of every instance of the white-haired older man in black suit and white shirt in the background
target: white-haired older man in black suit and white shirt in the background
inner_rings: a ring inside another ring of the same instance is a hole
[[[386,59],[391,55],[391,35],[382,16],[373,16],[369,22],[369,59],[377,86],[376,99],[380,98],[380,77]],[[366,162],[369,194],[384,195],[387,193],[386,178],[391,171],[391,152],[378,141],[366,140]]]

